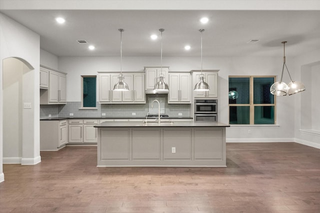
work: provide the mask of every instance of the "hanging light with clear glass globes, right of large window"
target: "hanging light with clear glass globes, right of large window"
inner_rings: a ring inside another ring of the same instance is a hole
[[[302,92],[302,91],[305,90],[304,85],[299,81],[292,81],[291,75],[289,73],[289,70],[288,70],[288,68],[286,67],[286,64],[285,64],[285,47],[284,47],[284,45],[285,45],[286,41],[282,41],[281,43],[283,43],[283,66],[282,66],[281,79],[280,79],[280,81],[275,82],[274,84],[271,85],[270,93],[272,95],[284,96],[286,94],[292,95],[292,94],[295,94],[297,92]],[[285,69],[288,72],[289,77],[290,77],[290,83],[288,83],[288,85],[286,85],[286,83],[282,82],[284,67],[285,67]]]

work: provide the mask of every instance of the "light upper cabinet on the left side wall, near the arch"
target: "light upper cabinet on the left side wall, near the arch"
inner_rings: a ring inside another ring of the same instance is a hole
[[[40,104],[66,104],[66,73],[43,68],[48,71],[48,89],[40,87]]]

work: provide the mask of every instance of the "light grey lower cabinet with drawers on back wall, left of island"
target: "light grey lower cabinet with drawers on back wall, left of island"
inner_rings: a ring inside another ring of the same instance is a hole
[[[96,119],[69,119],[69,143],[96,143]]]

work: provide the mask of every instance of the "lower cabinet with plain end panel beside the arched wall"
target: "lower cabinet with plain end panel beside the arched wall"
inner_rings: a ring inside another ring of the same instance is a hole
[[[56,151],[68,142],[67,119],[40,121],[40,150]]]

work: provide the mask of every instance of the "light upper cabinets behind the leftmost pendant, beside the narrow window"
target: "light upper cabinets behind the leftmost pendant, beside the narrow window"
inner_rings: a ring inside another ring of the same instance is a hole
[[[119,73],[99,73],[99,103],[145,103],[144,73],[122,73],[129,91],[113,91]]]

